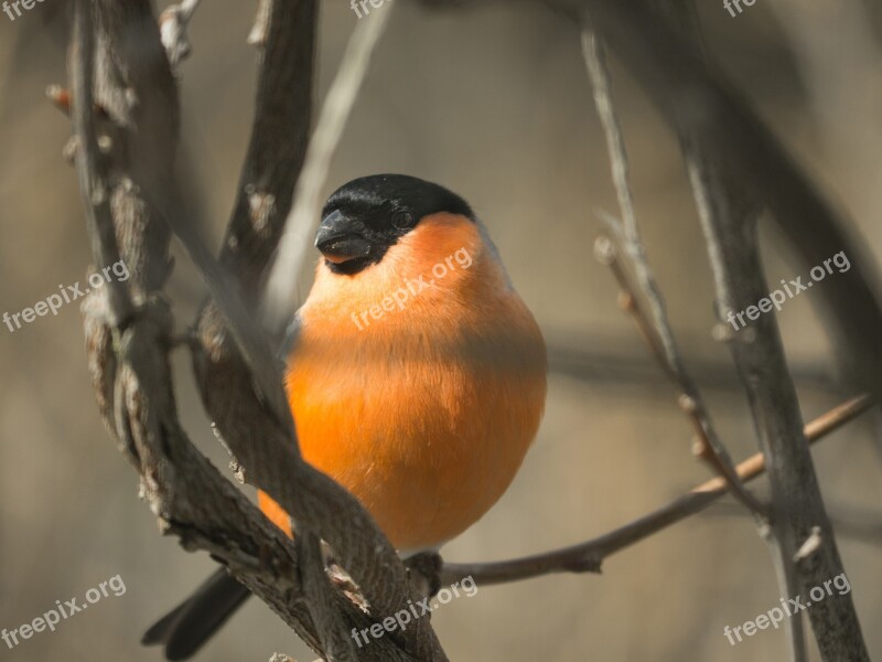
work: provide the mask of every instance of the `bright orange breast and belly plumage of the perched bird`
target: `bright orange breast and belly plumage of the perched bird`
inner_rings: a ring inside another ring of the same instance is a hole
[[[383,309],[402,287],[401,306]],[[490,510],[536,435],[546,353],[476,226],[438,214],[356,277],[320,266],[300,318],[287,387],[304,459],[401,551],[435,547]]]

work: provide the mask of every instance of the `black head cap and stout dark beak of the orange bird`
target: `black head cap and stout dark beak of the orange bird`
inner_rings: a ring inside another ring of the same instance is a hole
[[[344,184],[327,199],[315,247],[335,274],[378,263],[420,220],[448,212],[474,221],[472,209],[443,186],[406,174],[373,174]]]

